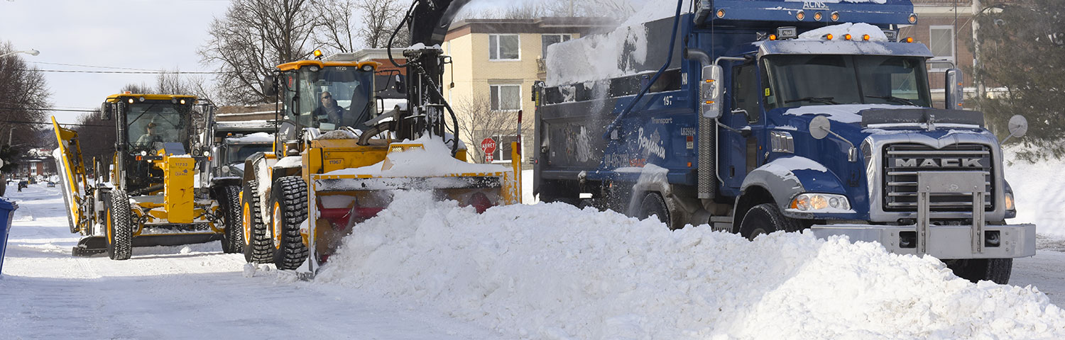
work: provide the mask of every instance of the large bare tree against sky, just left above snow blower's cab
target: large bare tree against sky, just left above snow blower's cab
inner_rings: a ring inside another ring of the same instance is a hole
[[[262,80],[277,65],[310,56],[318,20],[310,0],[234,0],[211,22],[211,38],[198,51],[201,63],[217,65],[218,98],[227,103],[269,102]]]

